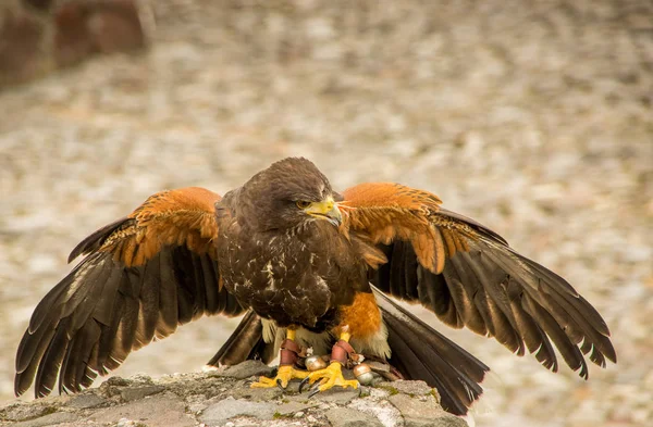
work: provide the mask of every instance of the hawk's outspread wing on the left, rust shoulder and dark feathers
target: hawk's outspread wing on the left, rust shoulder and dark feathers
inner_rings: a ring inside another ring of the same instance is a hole
[[[86,258],[38,304],[16,354],[15,393],[81,391],[130,352],[204,314],[243,312],[221,286],[213,240],[220,196],[184,188],[151,196],[82,241]],[[36,380],[35,380],[36,376]]]

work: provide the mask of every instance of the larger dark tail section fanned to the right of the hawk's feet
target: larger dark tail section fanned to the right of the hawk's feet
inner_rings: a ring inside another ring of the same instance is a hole
[[[482,394],[479,384],[490,368],[380,291],[374,293],[387,327],[390,364],[406,379],[435,387],[442,407],[465,415]]]

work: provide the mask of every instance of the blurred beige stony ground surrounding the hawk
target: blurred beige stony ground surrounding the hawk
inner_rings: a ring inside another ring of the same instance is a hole
[[[586,382],[416,307],[496,374],[477,425],[653,419],[651,1],[2,4],[0,400],[79,240],[159,190],[223,193],[304,155],[336,189],[438,193],[606,318],[619,363]],[[236,323],[187,325],[115,374],[198,371]]]

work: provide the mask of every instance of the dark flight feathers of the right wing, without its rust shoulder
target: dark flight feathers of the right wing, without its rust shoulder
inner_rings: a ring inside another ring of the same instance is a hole
[[[447,255],[453,251],[449,248],[455,247],[455,252],[442,273],[434,274],[417,265],[409,241],[381,244],[389,261],[372,273],[371,281],[379,289],[419,301],[445,324],[494,337],[518,355],[535,352],[535,359],[553,371],[557,362],[551,341],[583,378],[588,376],[583,353],[600,366],[605,366],[606,359],[616,362],[605,322],[565,279],[517,254],[479,223],[442,210],[431,215],[435,215],[434,226],[446,226],[464,246],[452,243],[447,236]]]

